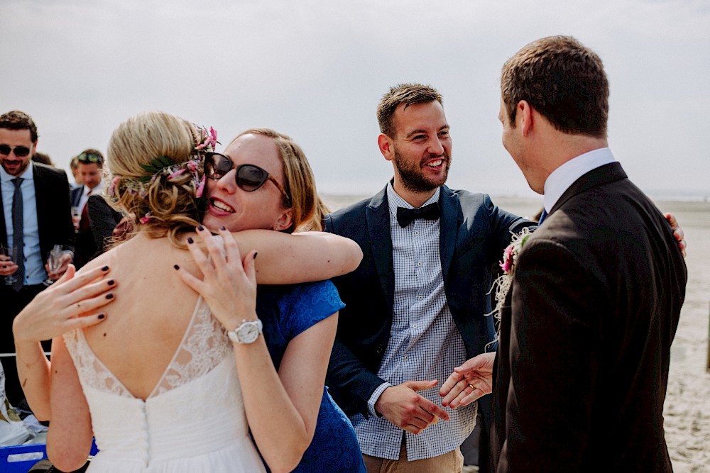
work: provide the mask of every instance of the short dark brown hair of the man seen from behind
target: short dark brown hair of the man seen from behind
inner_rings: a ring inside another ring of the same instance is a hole
[[[521,100],[572,135],[606,137],[609,83],[598,55],[570,36],[535,40],[503,65],[501,97],[511,126]]]

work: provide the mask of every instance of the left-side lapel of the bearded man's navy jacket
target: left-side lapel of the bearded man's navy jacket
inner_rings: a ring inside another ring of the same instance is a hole
[[[390,233],[390,209],[387,204],[387,188],[373,196],[365,208],[367,229],[370,235],[372,257],[375,261],[380,286],[392,313],[395,294],[395,274],[392,259],[392,236]]]

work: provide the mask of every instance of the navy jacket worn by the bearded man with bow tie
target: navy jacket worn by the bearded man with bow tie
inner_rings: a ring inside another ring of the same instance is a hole
[[[466,355],[484,352],[493,337],[486,292],[491,271],[510,243],[510,231],[530,225],[493,205],[485,194],[441,189],[439,253],[444,287]],[[331,213],[325,229],[355,240],[363,251],[360,266],[333,279],[346,307],[328,367],[327,385],[351,416],[368,416],[367,401],[383,383],[377,376],[392,326],[394,272],[386,189],[371,199]]]

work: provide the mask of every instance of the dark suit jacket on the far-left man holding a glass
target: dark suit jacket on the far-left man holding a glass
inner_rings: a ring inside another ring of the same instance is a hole
[[[38,162],[33,162],[32,168],[40,251],[43,259],[46,260],[54,245],[65,245],[68,249],[74,250],[74,224],[72,223],[69,199],[70,187],[67,174],[62,169]],[[1,212],[0,241],[7,244],[5,216]]]

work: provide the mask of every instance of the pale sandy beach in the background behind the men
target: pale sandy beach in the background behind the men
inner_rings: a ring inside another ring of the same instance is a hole
[[[323,196],[332,209],[366,196]],[[542,199],[493,197],[493,202],[521,216],[534,215]],[[676,473],[710,472],[710,203],[657,201],[674,213],[688,243],[688,284],[680,323],[671,348],[665,401],[665,431]],[[613,426],[610,425],[610,428]]]

